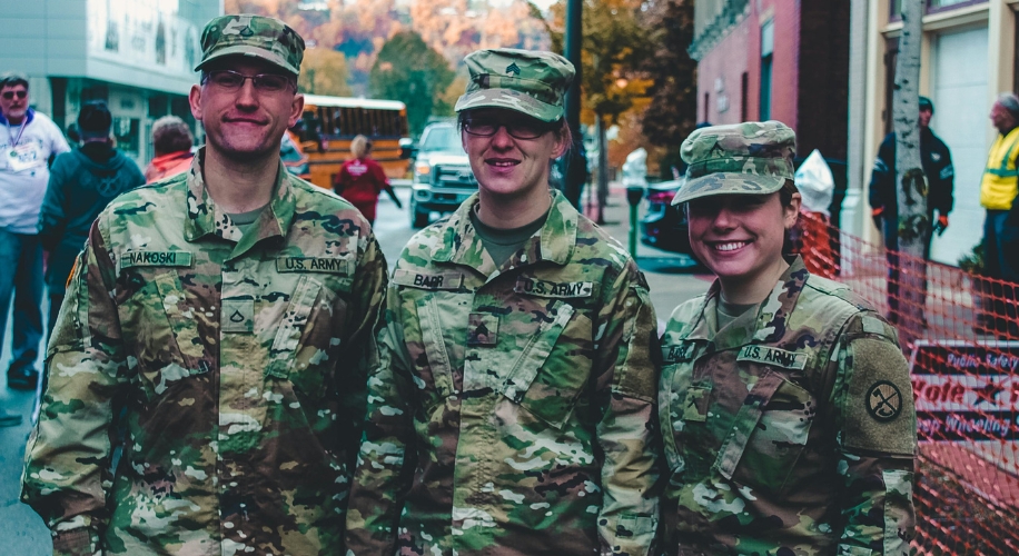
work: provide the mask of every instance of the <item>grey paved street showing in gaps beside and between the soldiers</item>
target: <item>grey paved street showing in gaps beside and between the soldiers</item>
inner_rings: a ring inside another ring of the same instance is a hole
[[[397,188],[397,195],[404,207],[408,205],[410,190]],[[611,205],[606,211],[605,226],[622,244],[627,241],[629,224],[626,200],[623,191],[613,191]],[[383,252],[390,261],[396,260],[403,246],[410,239],[414,230],[409,228],[406,208],[397,209],[387,196],[382,196],[378,203],[378,217],[375,231]],[[651,285],[651,297],[660,322],[669,317],[680,302],[704,291],[710,284],[709,277],[692,274],[690,261],[681,256],[665,252],[646,246],[637,249],[639,261]],[[8,327],[9,328],[9,327]],[[0,369],[6,370],[10,357],[10,330],[4,335],[3,356]],[[41,363],[40,363],[41,365]],[[17,556],[39,556],[52,553],[49,533],[42,520],[28,507],[18,502],[20,493],[21,464],[24,444],[30,431],[29,413],[32,408],[32,395],[6,388],[6,374],[0,374],[0,403],[13,410],[20,410],[24,420],[20,427],[0,428],[0,554]]]

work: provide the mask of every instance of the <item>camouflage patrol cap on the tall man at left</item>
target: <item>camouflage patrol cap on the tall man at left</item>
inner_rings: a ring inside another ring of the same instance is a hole
[[[201,31],[201,61],[195,71],[226,56],[250,56],[296,76],[304,51],[304,39],[276,18],[250,13],[220,16]]]

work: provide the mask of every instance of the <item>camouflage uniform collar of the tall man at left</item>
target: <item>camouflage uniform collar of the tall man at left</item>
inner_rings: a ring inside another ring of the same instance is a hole
[[[233,225],[226,212],[209,197],[201,173],[205,160],[205,148],[199,149],[191,159],[188,169],[188,211],[185,221],[185,238],[196,241],[208,235],[237,242],[234,255],[239,256],[256,242],[269,237],[285,237],[294,218],[296,198],[290,186],[289,175],[279,162],[276,170],[276,186],[269,206],[261,212],[258,221],[258,234],[243,237],[240,229]]]

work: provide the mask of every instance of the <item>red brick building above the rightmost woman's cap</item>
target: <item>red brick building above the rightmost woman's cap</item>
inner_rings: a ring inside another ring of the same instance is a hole
[[[845,160],[849,16],[831,0],[698,0],[698,119],[779,120],[801,157]]]

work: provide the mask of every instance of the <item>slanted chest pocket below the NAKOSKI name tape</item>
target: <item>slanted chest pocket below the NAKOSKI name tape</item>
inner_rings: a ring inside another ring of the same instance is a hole
[[[209,370],[194,309],[177,271],[156,269],[120,309],[123,336],[132,339],[129,345],[149,399],[184,378]]]

